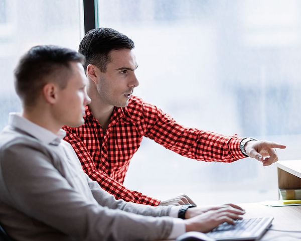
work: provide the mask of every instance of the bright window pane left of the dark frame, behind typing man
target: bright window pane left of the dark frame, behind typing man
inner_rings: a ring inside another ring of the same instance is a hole
[[[0,0],[0,128],[8,113],[20,111],[13,70],[20,56],[38,44],[77,49],[83,37],[80,0]]]

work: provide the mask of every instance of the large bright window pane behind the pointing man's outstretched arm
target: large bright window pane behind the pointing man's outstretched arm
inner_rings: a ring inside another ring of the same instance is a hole
[[[301,3],[296,0],[98,0],[99,27],[135,42],[135,94],[179,123],[286,144],[301,157]],[[137,180],[139,180],[137,182]],[[277,198],[276,166],[196,162],[144,139],[125,185],[198,203]],[[160,188],[158,188],[160,187]]]

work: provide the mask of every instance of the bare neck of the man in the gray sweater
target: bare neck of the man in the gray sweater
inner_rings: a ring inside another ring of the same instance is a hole
[[[51,131],[55,135],[62,127],[55,122],[53,116],[48,111],[38,110],[37,108],[24,108],[22,116],[32,123]]]

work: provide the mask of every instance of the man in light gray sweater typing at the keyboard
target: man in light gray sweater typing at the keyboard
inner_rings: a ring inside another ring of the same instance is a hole
[[[140,205],[116,200],[82,171],[63,125],[90,102],[83,55],[36,46],[15,70],[22,113],[0,134],[0,223],[16,240],[157,240],[241,219],[234,205]],[[178,218],[180,217],[180,218]],[[182,219],[181,219],[182,218]]]

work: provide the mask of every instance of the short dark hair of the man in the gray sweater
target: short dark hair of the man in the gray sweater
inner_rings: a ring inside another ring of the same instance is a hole
[[[34,105],[40,90],[55,81],[60,88],[67,85],[70,62],[85,63],[85,57],[74,50],[55,45],[32,47],[15,69],[16,92],[25,106]]]

